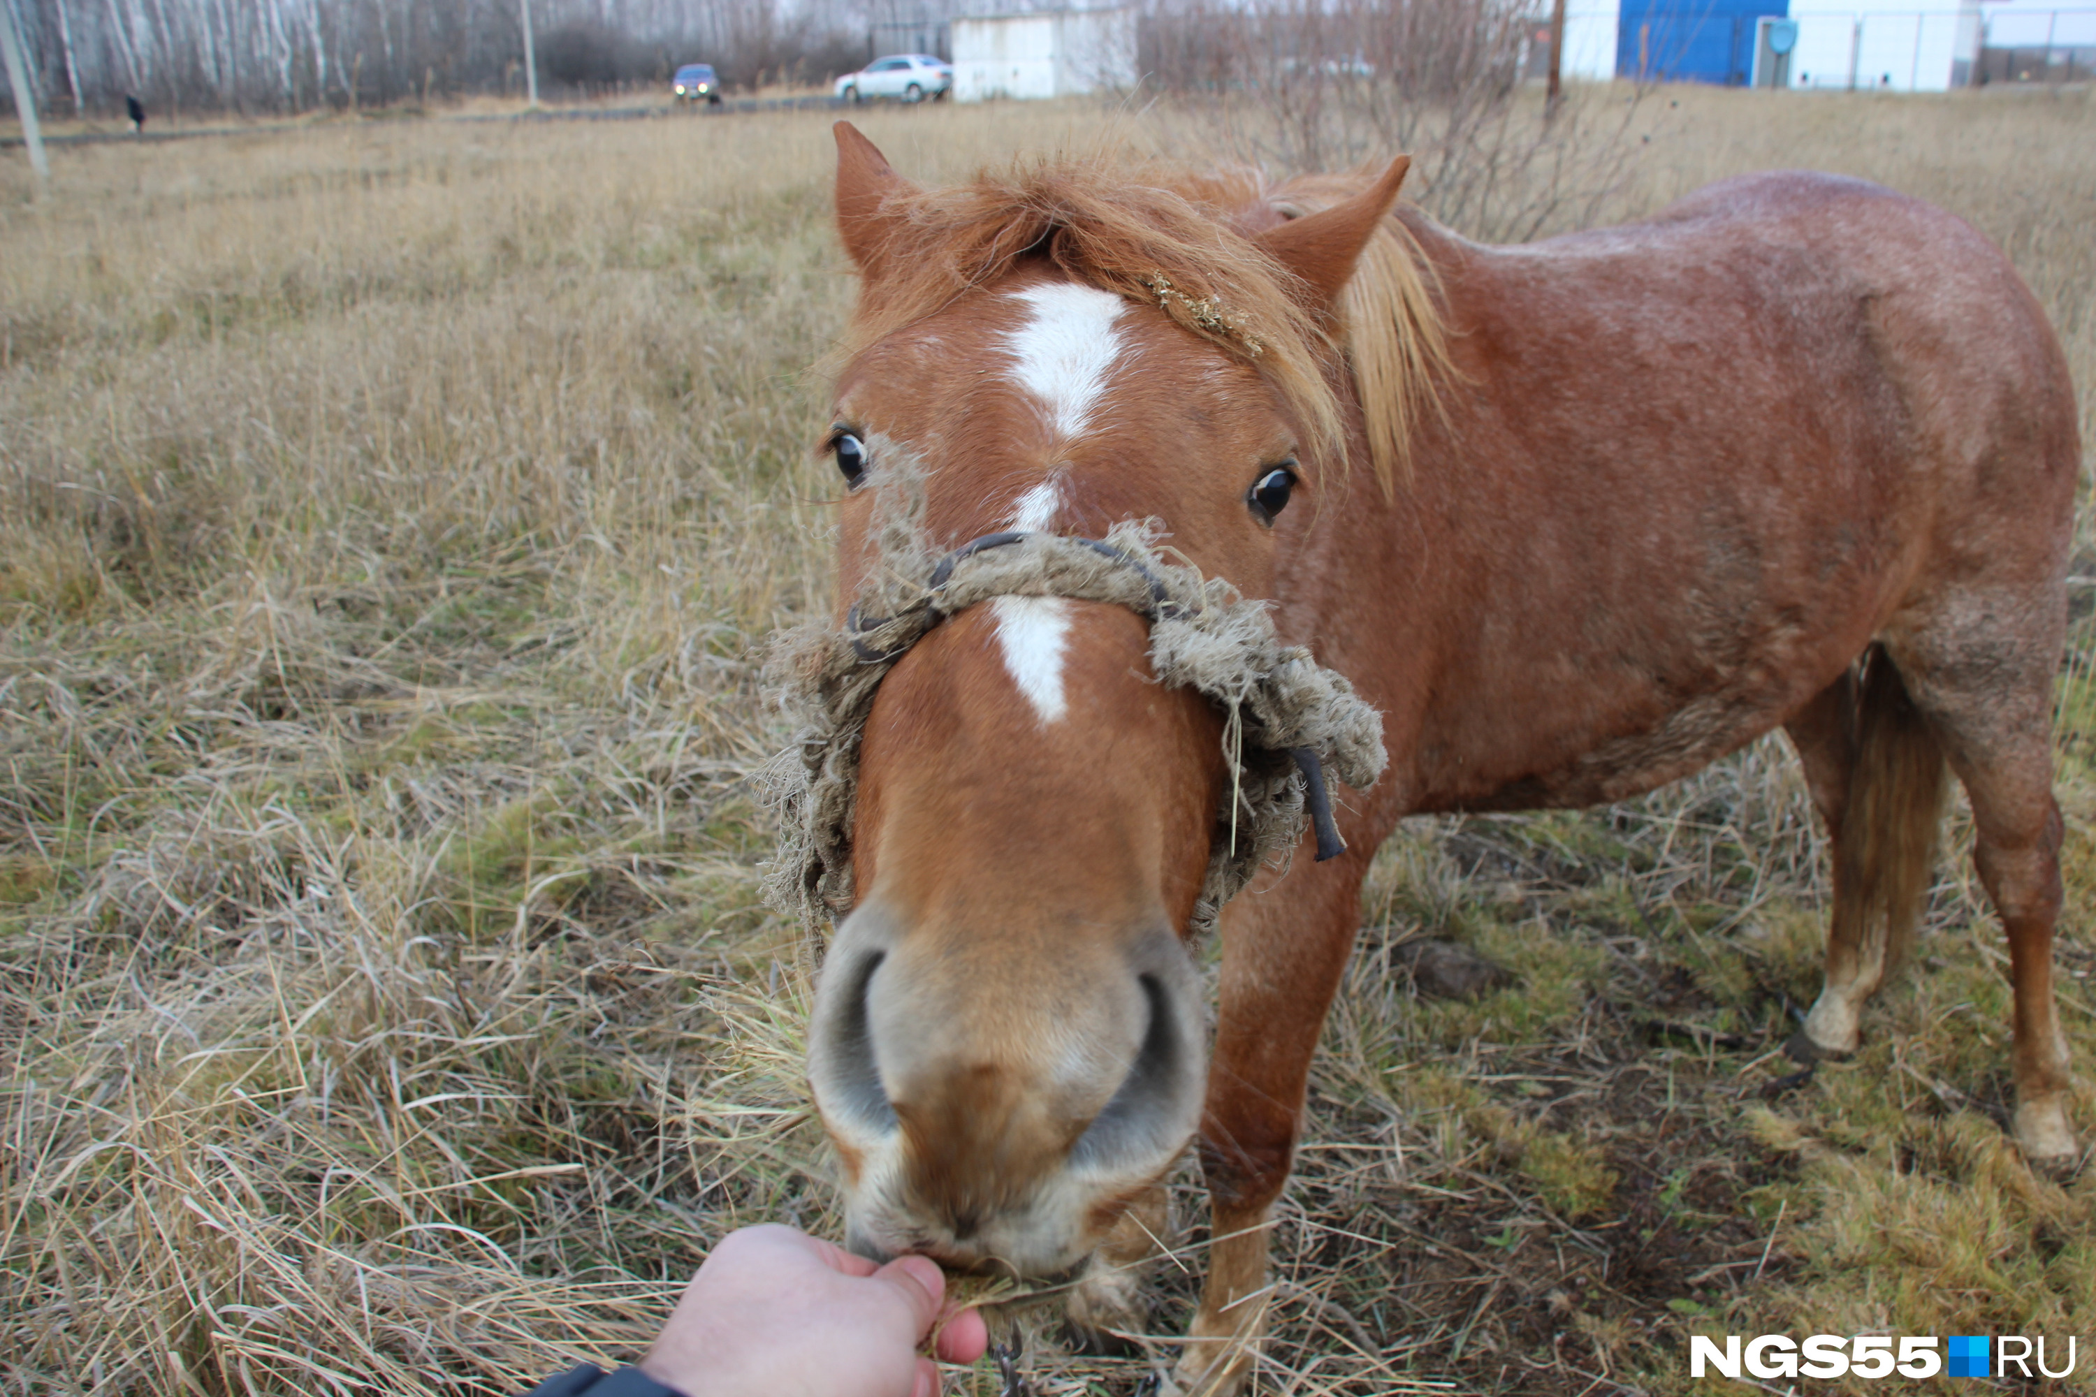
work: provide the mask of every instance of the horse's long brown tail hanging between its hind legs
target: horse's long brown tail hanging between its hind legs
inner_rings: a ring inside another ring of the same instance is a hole
[[[1943,823],[1945,764],[1928,718],[1882,645],[1863,653],[1855,767],[1842,808],[1834,919],[1884,926],[1884,972],[1899,968],[1922,917]]]

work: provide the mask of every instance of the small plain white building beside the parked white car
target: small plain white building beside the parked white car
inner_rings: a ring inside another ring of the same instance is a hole
[[[1136,86],[1136,13],[1048,10],[954,21],[954,101]]]

